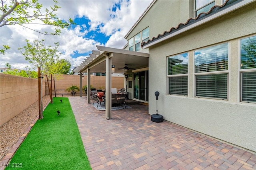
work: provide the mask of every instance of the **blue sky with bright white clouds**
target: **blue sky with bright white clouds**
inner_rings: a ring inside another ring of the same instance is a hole
[[[53,5],[51,0],[39,0],[44,7]],[[5,25],[0,27],[0,45],[9,45],[10,50],[1,55],[0,67],[10,63],[12,68],[33,68],[25,61],[18,51],[23,47],[25,39],[34,41],[45,39],[46,45],[60,42],[58,50],[61,59],[68,59],[74,66],[80,65],[96,45],[122,49],[127,41],[124,35],[134,25],[152,0],[58,0],[61,8],[57,16],[62,20],[72,18],[77,25],[70,29],[62,29],[60,36],[38,35],[35,31],[19,25]],[[46,25],[26,25],[37,31],[52,31],[54,27]]]

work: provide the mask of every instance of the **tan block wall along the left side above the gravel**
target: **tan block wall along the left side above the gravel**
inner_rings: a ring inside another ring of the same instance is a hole
[[[45,95],[43,84],[43,96]],[[0,73],[0,126],[38,101],[38,80]]]

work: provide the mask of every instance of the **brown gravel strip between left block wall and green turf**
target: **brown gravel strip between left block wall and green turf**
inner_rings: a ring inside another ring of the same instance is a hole
[[[49,102],[50,96],[43,96],[43,107],[46,107]],[[37,116],[38,101],[0,127],[0,160],[4,158]]]

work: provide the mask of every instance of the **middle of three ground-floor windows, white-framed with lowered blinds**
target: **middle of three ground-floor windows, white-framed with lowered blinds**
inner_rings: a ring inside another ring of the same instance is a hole
[[[194,51],[195,97],[228,100],[228,43]]]

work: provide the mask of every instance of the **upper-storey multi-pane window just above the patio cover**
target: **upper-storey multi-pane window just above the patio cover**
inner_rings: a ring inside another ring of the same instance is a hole
[[[129,51],[140,51],[141,43],[148,41],[149,39],[149,27],[136,34],[134,37],[128,40]]]

